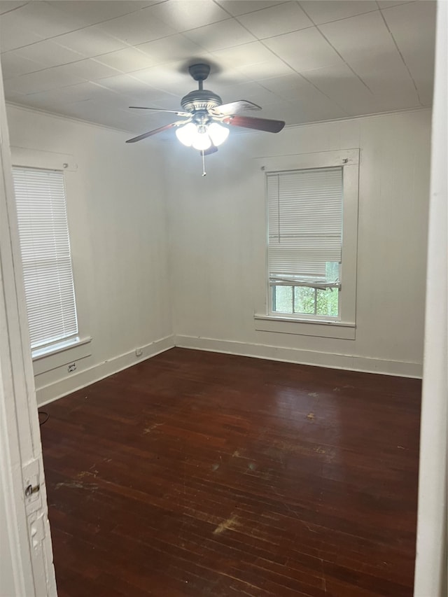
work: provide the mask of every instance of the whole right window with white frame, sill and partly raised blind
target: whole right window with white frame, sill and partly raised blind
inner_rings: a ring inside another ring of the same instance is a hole
[[[267,244],[255,330],[355,339],[359,150],[256,162]]]

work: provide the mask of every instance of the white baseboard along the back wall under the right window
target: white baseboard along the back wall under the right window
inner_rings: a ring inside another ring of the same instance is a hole
[[[289,349],[278,346],[268,346],[266,344],[249,344],[246,342],[217,340],[214,338],[176,335],[174,337],[174,344],[186,349],[237,354],[254,358],[265,358],[267,360],[281,360],[286,363],[314,365],[316,367],[378,373],[382,375],[394,375],[397,377],[414,377],[420,379],[423,370],[420,363]]]

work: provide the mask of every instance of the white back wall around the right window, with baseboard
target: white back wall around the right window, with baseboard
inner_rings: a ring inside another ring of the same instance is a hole
[[[356,339],[255,330],[265,297],[265,199],[253,158],[360,148]],[[176,344],[421,375],[430,113],[231,136],[207,158],[173,144],[169,234]]]

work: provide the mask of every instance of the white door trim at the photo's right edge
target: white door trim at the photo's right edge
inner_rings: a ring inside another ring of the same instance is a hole
[[[447,597],[448,5],[437,3],[414,597]]]

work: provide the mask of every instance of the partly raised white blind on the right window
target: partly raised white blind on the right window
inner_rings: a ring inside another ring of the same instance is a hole
[[[267,202],[269,282],[339,286],[328,263],[341,261],[342,167],[267,173]]]

